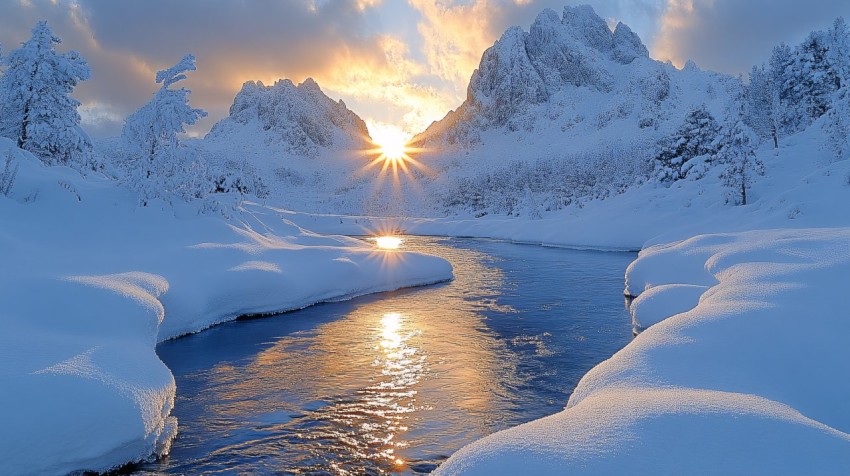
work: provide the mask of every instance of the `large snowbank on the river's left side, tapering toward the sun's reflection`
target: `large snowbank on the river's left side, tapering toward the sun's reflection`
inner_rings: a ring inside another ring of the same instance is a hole
[[[159,341],[452,276],[442,259],[318,236],[260,206],[229,219],[140,208],[113,181],[0,139],[7,154],[18,173],[0,195],[4,474],[103,471],[167,450],[175,385]]]

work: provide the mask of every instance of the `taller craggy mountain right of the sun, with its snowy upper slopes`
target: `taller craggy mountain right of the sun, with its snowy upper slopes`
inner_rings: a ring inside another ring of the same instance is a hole
[[[512,27],[487,49],[464,103],[415,141],[472,148],[493,130],[517,140],[590,135],[607,141],[605,129],[654,138],[701,103],[722,114],[737,84],[695,65],[678,70],[650,59],[628,26],[618,23],[612,31],[590,6],[567,6],[561,16],[547,9],[528,32]]]

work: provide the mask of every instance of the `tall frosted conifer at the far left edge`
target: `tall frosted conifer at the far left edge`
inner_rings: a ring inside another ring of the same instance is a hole
[[[76,51],[57,53],[61,41],[42,21],[5,58],[0,135],[48,163],[90,165],[91,140],[79,126],[80,102],[70,94],[91,71]]]

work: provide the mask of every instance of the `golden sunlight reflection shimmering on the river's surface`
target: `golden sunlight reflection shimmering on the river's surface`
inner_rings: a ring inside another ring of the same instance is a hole
[[[211,369],[205,390],[214,394],[205,400],[215,402],[207,409],[215,418],[208,430],[220,424],[226,431],[244,415],[257,419],[256,435],[234,435],[234,444],[219,451],[279,446],[303,452],[307,472],[361,474],[368,462],[382,473],[405,470],[409,446],[420,454],[433,448],[438,461],[447,456],[439,450],[447,441],[471,441],[501,427],[502,410],[511,406],[514,354],[481,314],[497,307],[501,271],[475,250],[425,241],[455,263],[450,292],[438,286],[365,301],[315,329],[269,336],[274,344],[239,369]],[[312,403],[288,403],[298,401]],[[336,455],[330,463],[329,453]],[[311,467],[320,455],[325,465]]]

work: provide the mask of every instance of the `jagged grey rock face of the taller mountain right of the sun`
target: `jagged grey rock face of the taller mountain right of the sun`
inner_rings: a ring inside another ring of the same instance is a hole
[[[587,5],[568,6],[560,17],[546,9],[528,33],[512,27],[484,52],[464,104],[420,139],[453,143],[476,129],[510,126],[512,118],[567,88],[610,92],[611,65],[637,58],[649,58],[649,52],[628,26],[619,23],[612,32]]]

